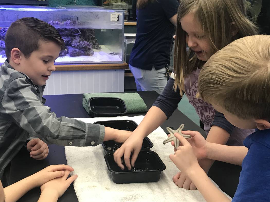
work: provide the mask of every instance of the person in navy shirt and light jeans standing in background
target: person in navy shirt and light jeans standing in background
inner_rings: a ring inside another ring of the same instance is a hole
[[[167,84],[178,6],[177,0],[137,1],[137,33],[129,68],[138,91],[161,94]]]

